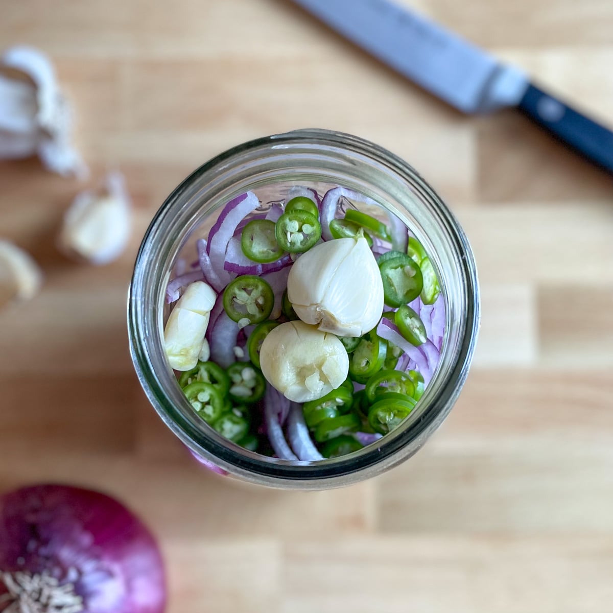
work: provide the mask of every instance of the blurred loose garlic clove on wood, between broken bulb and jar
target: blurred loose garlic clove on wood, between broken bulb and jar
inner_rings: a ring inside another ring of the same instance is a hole
[[[112,262],[128,244],[130,208],[123,176],[109,173],[101,188],[88,189],[75,197],[64,215],[59,249],[91,264]]]

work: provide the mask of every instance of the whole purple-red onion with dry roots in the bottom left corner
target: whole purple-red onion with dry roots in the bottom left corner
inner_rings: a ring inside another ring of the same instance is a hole
[[[0,611],[162,613],[150,531],[98,492],[36,485],[0,497]]]

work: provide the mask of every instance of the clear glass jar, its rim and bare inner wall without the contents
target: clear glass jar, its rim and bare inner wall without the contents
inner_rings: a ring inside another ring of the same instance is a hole
[[[446,303],[438,370],[414,411],[377,444],[319,462],[265,457],[222,438],[192,410],[167,363],[162,342],[166,286],[179,257],[186,249],[196,253],[196,238],[207,235],[230,199],[251,190],[267,202],[279,199],[292,185],[344,186],[395,213],[430,255]],[[473,357],[479,328],[478,280],[462,228],[411,166],[352,135],[300,130],[226,151],[170,194],[140,246],[129,292],[128,327],[132,360],[145,393],[170,430],[202,463],[217,467],[219,473],[272,487],[339,487],[408,459],[443,423]]]

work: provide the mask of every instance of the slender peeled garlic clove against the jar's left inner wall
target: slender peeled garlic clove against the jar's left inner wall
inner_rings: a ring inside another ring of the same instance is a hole
[[[216,298],[210,285],[195,281],[187,287],[170,313],[164,327],[164,349],[170,366],[175,370],[191,370],[198,363]]]

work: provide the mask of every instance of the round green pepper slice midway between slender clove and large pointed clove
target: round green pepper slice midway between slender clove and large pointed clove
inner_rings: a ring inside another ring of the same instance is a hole
[[[237,276],[224,289],[224,310],[233,321],[246,319],[259,324],[267,319],[275,305],[272,287],[257,275]]]

